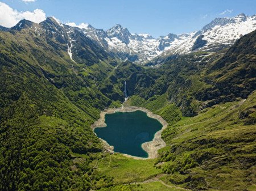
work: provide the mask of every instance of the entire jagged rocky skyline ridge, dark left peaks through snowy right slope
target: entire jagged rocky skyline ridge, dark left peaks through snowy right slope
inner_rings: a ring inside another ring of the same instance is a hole
[[[69,55],[74,57],[73,60],[85,63],[87,59],[90,60],[89,64],[92,64],[92,60],[91,55],[88,55],[90,53],[85,51],[85,41],[89,42],[90,48],[97,50],[93,51],[94,53],[102,54],[100,59],[112,57],[121,61],[156,65],[179,54],[198,51],[217,52],[229,48],[241,36],[256,29],[256,15],[246,16],[245,14],[234,18],[216,18],[198,32],[180,35],[169,33],[167,36],[160,36],[156,39],[148,34],[130,33],[120,24],[104,31],[88,24],[79,27],[72,24],[68,26],[61,24],[57,19],[48,18],[39,26],[45,26],[49,20],[55,22],[55,29],[44,29],[45,32],[51,33],[50,36],[57,36],[60,41],[65,41]],[[22,20],[13,28],[0,27],[0,30],[20,30],[26,26],[32,27],[32,22],[26,21],[25,23]],[[63,34],[65,35],[62,36]]]

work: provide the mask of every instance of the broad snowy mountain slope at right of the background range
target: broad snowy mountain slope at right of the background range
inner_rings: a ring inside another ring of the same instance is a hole
[[[168,60],[175,54],[191,52],[217,52],[229,48],[237,39],[256,29],[256,15],[240,14],[234,18],[217,18],[204,26],[200,31],[193,32],[184,39],[176,41],[168,50],[156,57],[148,65],[156,65]]]

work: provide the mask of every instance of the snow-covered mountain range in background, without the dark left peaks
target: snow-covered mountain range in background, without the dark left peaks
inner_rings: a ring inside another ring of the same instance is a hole
[[[156,65],[175,54],[216,52],[228,48],[241,36],[254,31],[255,24],[255,15],[240,14],[234,18],[214,19],[198,32],[180,35],[170,33],[157,39],[148,34],[131,34],[120,24],[107,31],[88,25],[81,27],[81,31],[122,61]]]

